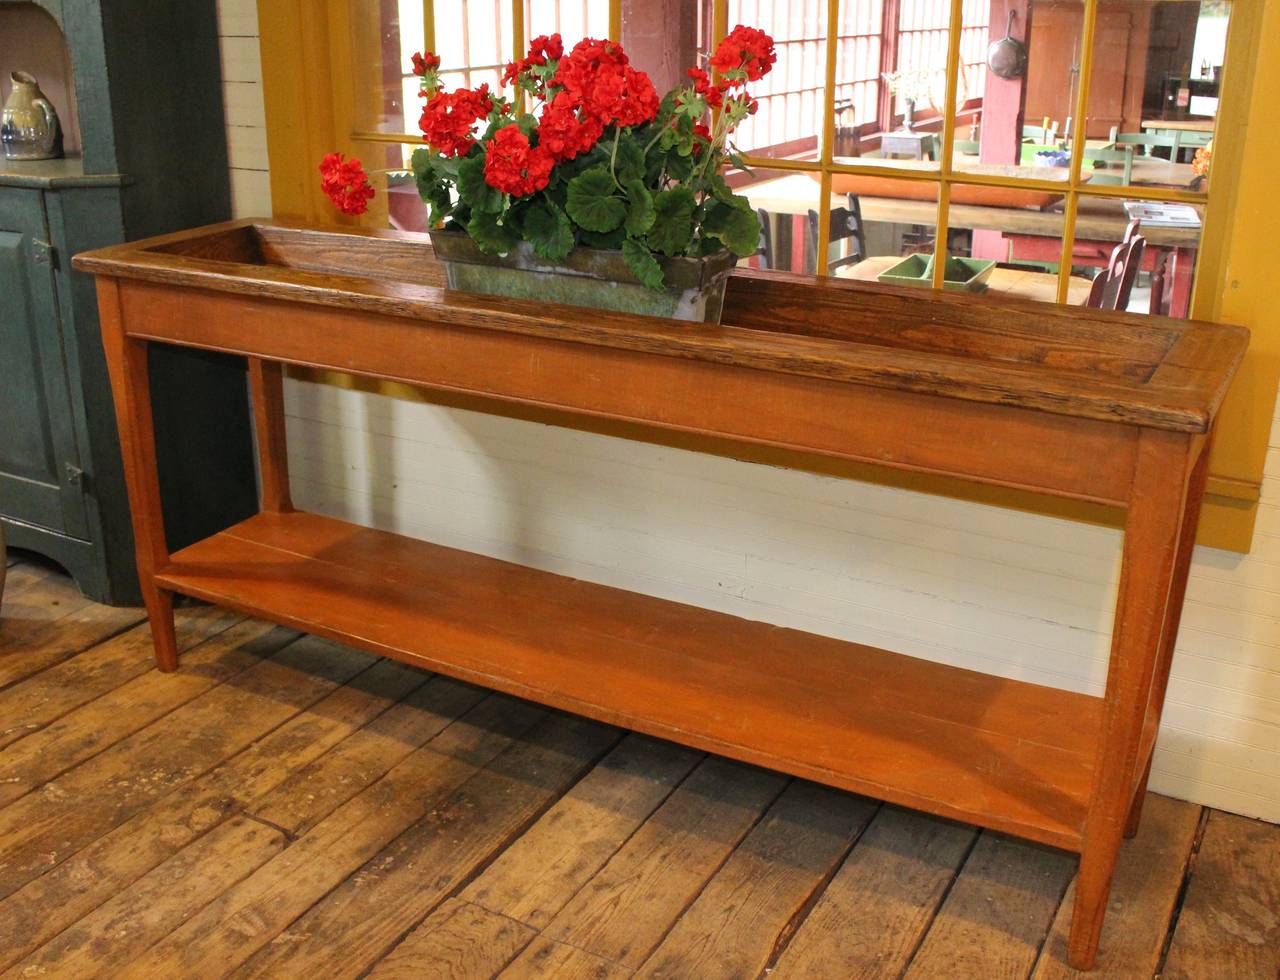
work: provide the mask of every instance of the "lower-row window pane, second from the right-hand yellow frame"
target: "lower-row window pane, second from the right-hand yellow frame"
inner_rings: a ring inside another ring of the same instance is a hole
[[[1038,192],[954,184],[947,212],[948,278],[970,281],[970,292],[992,297],[1057,299],[1057,274],[1062,253],[1061,200],[1044,210],[1036,207]],[[1083,303],[1089,279],[1073,275],[1068,302]]]

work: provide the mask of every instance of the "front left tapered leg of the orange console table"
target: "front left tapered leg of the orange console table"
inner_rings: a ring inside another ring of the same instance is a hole
[[[124,333],[116,280],[99,278],[97,307],[102,324],[106,367],[111,375],[115,420],[120,431],[124,482],[129,490],[129,513],[133,517],[133,542],[142,601],[147,606],[147,619],[151,623],[156,665],[161,670],[175,670],[178,642],[174,636],[173,595],[157,589],[155,583],[156,571],[169,563],[169,545],[165,541],[160,480],[156,475],[147,344],[145,340],[132,340]]]

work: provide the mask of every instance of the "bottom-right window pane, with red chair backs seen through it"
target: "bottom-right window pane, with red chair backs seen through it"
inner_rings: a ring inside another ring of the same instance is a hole
[[[1132,220],[1143,239],[1137,275],[1119,278],[1116,308],[1185,319],[1190,308],[1203,209],[1164,202],[1082,197],[1071,264],[1091,278],[1112,262]]]

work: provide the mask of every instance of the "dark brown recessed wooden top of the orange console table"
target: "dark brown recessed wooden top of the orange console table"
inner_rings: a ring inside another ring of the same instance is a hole
[[[428,248],[426,235],[241,220],[86,252],[73,266],[193,293],[184,304],[230,293],[343,311],[337,322],[352,329],[394,320],[462,331],[460,343],[536,336],[1181,432],[1208,431],[1248,342],[1219,324],[753,270],[730,276],[721,325],[690,324],[448,290]],[[201,340],[214,329],[218,343]],[[212,349],[270,343],[234,322],[182,330]]]

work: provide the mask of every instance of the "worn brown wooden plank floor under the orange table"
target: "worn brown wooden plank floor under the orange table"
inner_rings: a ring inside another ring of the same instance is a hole
[[[0,977],[1064,977],[1061,852],[23,557]],[[1160,796],[1100,977],[1280,972],[1280,826]]]

